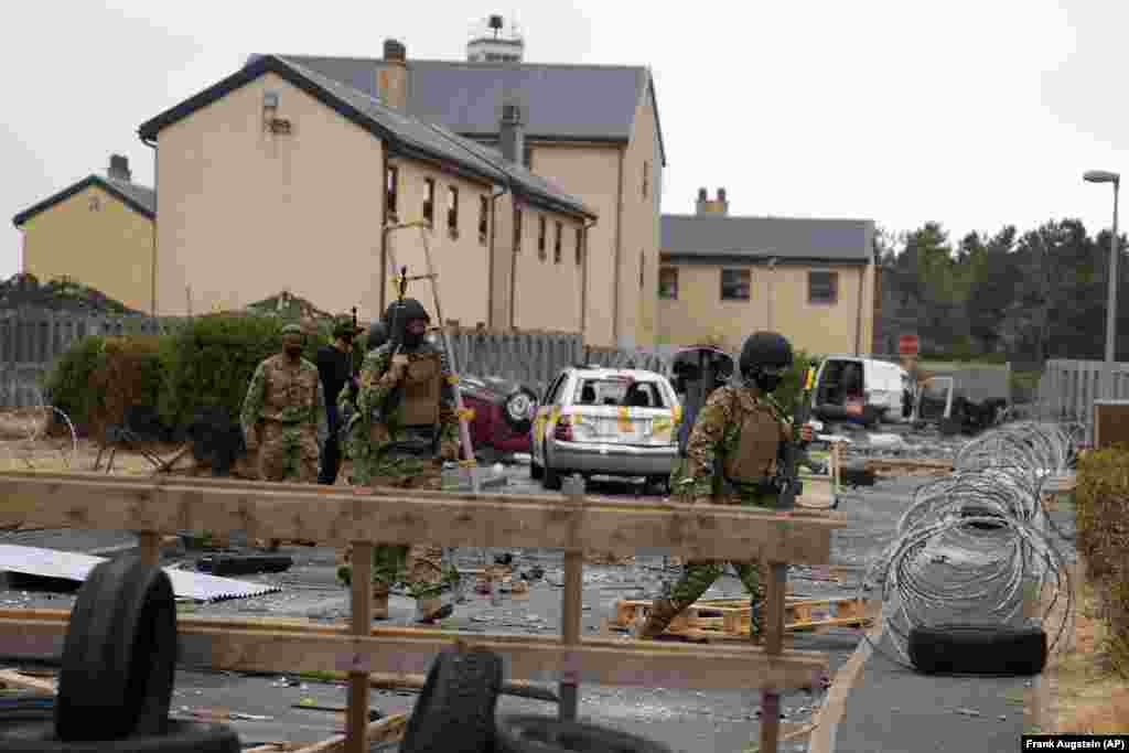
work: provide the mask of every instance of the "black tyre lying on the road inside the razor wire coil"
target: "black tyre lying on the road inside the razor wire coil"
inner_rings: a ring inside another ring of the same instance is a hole
[[[1042,627],[914,627],[908,648],[910,662],[922,674],[1029,676],[1047,665]]]

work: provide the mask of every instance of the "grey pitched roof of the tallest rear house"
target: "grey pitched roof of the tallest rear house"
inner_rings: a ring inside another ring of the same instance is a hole
[[[260,55],[253,54],[248,63]],[[378,96],[383,60],[281,55]],[[650,72],[638,65],[408,61],[408,112],[469,137],[498,133],[502,99],[525,106],[531,138],[627,141],[644,91],[654,98]],[[658,104],[655,105],[656,119]],[[659,151],[666,164],[662,128]]]

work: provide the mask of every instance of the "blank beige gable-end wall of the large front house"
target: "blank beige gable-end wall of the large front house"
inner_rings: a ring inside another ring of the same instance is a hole
[[[262,124],[279,93],[289,134]],[[238,308],[281,290],[379,310],[382,142],[273,73],[161,130],[157,308]]]

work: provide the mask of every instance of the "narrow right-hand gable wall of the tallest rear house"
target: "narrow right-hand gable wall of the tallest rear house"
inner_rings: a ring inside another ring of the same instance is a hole
[[[647,190],[644,193],[644,173]],[[623,347],[650,347],[658,335],[658,266],[663,160],[650,88],[634,116],[623,165],[623,240],[620,272],[620,335]],[[641,268],[641,269],[640,269]],[[641,275],[640,275],[641,272]],[[641,282],[640,282],[641,277]]]

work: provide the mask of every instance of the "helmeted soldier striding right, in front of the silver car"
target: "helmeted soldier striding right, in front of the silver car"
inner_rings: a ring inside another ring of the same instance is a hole
[[[772,400],[771,392],[791,366],[791,345],[779,334],[758,332],[741,352],[742,385],[716,389],[694,422],[684,465],[679,470],[675,498],[683,502],[751,505],[771,508],[778,491],[772,482],[780,444],[812,440],[812,427],[797,431]],[[753,596],[752,630],[763,628],[763,564],[733,562]],[[656,638],[682,610],[704,594],[724,572],[721,562],[690,562],[665,598],[656,599],[639,638]]]

